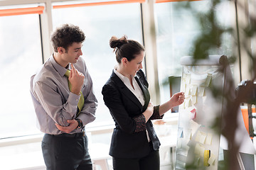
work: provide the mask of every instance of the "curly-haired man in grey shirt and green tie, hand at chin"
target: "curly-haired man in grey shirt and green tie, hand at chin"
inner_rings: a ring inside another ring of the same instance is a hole
[[[84,40],[78,26],[57,28],[51,35],[53,55],[31,77],[31,96],[45,133],[42,151],[48,170],[92,170],[84,127],[95,120],[97,99],[80,57]]]

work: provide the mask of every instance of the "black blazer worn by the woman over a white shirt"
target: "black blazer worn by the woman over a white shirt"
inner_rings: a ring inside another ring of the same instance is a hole
[[[144,72],[139,70],[135,79],[144,94],[144,106],[119,79],[117,74],[114,74],[114,71],[102,88],[103,100],[107,108],[110,109],[116,126],[110,145],[110,155],[112,157],[139,158],[149,154],[150,146],[146,137],[146,129],[149,132],[154,149],[159,149],[160,146],[151,120],[148,120],[145,125],[144,116],[142,116],[150,101],[149,84]],[[154,107],[151,119],[153,118],[162,118],[162,116],[159,116],[159,106]]]

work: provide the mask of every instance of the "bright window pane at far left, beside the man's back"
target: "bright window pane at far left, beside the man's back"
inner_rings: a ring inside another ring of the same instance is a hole
[[[0,138],[40,132],[29,92],[30,77],[41,65],[38,14],[0,17]]]

